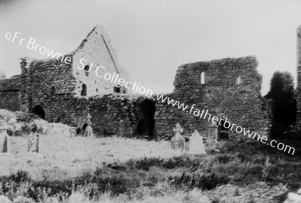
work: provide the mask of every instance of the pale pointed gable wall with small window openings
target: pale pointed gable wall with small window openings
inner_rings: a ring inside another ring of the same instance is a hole
[[[118,74],[118,78],[125,81],[129,80],[127,73],[120,68],[110,39],[101,26],[96,26],[79,48],[73,52],[72,61],[77,96],[80,96],[82,84],[87,86],[87,96],[113,93],[114,87],[118,84],[105,80],[104,75],[106,73],[109,73],[112,77],[115,73],[115,76]],[[89,72],[80,70],[84,67]],[[100,68],[97,69],[97,67]],[[98,77],[96,74],[102,77]],[[125,90],[123,93],[128,91],[128,89]]]

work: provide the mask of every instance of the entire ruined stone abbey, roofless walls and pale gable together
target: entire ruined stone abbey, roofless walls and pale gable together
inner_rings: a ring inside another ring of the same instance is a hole
[[[297,36],[296,93],[300,110],[301,27]],[[22,58],[20,75],[0,78],[0,108],[32,112],[49,122],[76,127],[78,134],[91,124],[98,136],[169,136],[173,135],[175,124],[180,123],[184,135],[190,136],[196,129],[205,139],[215,139],[210,130],[217,129],[217,138],[227,131],[229,139],[246,139],[243,134],[162,103],[157,95],[139,96],[97,77],[95,69],[102,66],[105,72],[129,80],[100,26],[94,27],[80,46],[64,57],[70,57],[72,63]],[[80,69],[83,58],[86,64]],[[257,64],[255,57],[246,56],[181,65],[175,75],[174,91],[164,96],[189,106],[195,104],[198,109],[208,109],[211,115],[268,136],[270,116],[261,97],[262,77]]]

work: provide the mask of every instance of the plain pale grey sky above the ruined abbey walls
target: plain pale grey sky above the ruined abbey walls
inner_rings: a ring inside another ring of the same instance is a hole
[[[140,86],[169,93],[182,64],[254,55],[265,95],[275,71],[295,81],[301,1],[1,0],[0,22],[0,70],[7,77],[21,73],[20,58],[47,57],[6,40],[6,33],[68,54],[102,25],[121,68]]]

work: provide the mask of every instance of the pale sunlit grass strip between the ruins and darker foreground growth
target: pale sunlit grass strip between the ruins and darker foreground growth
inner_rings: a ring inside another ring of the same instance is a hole
[[[56,134],[40,136],[40,154],[27,152],[26,137],[11,137],[11,154],[2,156],[0,175],[26,170],[35,180],[62,180],[93,173],[108,164],[129,159],[180,156],[167,141],[155,142],[118,137],[89,139]]]

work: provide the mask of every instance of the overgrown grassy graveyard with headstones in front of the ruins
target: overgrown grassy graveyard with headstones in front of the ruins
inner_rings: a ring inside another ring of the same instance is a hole
[[[0,116],[11,134],[0,195],[14,202],[283,202],[299,188],[299,153],[254,141],[209,142],[195,131],[190,144],[179,124],[170,141],[85,137],[33,114]]]

